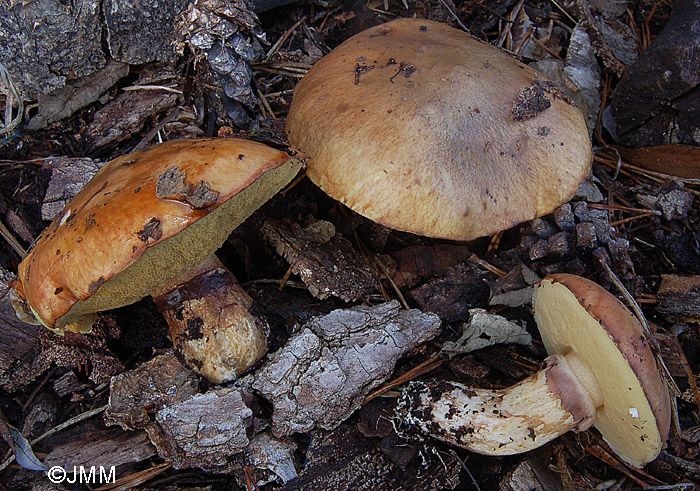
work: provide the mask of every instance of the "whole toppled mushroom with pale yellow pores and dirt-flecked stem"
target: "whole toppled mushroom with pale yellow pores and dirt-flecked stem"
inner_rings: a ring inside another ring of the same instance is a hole
[[[655,459],[668,436],[670,399],[637,318],[601,286],[570,274],[540,281],[533,309],[550,354],[539,372],[501,390],[412,382],[399,399],[397,428],[511,455],[593,424],[625,462]]]

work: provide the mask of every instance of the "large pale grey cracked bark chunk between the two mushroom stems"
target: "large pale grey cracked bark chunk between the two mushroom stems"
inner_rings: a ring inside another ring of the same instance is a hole
[[[396,301],[313,319],[255,374],[253,387],[274,406],[273,434],[337,427],[405,352],[439,329],[436,315],[401,310]]]

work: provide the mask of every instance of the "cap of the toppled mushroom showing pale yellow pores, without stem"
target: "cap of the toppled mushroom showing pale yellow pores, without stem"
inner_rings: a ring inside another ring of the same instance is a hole
[[[593,425],[629,464],[641,467],[664,446],[668,388],[637,318],[600,285],[570,274],[537,284],[535,320],[549,354],[570,352],[592,372],[603,405]]]

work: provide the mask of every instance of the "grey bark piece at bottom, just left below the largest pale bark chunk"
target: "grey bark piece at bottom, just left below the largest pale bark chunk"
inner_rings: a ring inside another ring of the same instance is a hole
[[[250,441],[246,434],[253,412],[240,388],[197,394],[156,415],[157,425],[146,428],[158,454],[183,469],[230,470],[231,458]]]

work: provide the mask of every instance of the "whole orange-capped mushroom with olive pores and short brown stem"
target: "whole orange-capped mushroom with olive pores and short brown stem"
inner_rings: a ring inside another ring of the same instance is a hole
[[[58,333],[152,295],[177,350],[213,382],[267,349],[252,299],[213,254],[298,172],[285,152],[239,139],[156,145],[105,164],[19,265],[15,308]]]

